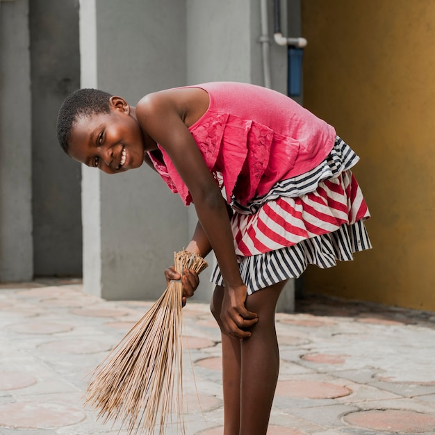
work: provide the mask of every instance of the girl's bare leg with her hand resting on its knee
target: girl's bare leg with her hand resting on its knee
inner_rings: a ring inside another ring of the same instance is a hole
[[[275,309],[286,281],[249,295],[246,308],[258,314],[252,336],[241,342],[239,435],[266,435],[279,374]]]

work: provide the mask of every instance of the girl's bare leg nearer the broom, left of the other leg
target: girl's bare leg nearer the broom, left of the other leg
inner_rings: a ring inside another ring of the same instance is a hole
[[[220,309],[224,288],[213,293],[211,312],[222,331]],[[240,342],[222,331],[222,385],[224,393],[224,435],[238,435],[240,427]]]

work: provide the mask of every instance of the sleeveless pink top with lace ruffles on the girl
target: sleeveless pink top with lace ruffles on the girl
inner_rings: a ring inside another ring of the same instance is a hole
[[[227,201],[246,204],[284,179],[320,164],[334,147],[334,127],[279,92],[235,82],[191,86],[208,92],[210,104],[189,131]],[[165,150],[163,162],[149,158],[170,190],[186,206],[190,192]]]

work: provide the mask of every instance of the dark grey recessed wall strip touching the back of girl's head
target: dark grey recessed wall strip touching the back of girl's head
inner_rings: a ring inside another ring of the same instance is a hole
[[[56,117],[80,87],[79,2],[30,2],[34,273],[81,276],[81,169],[58,146]]]

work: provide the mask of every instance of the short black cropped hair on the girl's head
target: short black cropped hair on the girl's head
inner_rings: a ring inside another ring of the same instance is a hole
[[[81,115],[89,116],[96,113],[110,113],[110,97],[112,95],[102,90],[84,88],[72,92],[58,113],[58,142],[63,151],[68,154],[68,140],[72,126]]]

